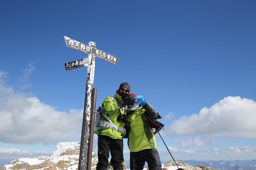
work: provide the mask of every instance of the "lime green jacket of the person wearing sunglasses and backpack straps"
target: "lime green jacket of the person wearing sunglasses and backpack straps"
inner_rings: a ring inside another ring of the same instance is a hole
[[[122,100],[122,97],[115,93],[114,97],[116,98],[116,102],[119,102]],[[119,127],[124,127],[124,122],[119,122],[117,120],[118,116],[121,114],[125,114],[125,110],[120,109],[118,103],[114,103],[111,96],[107,97],[105,100],[103,100],[102,105],[104,107],[104,113],[107,112],[106,116],[109,117],[109,119]],[[105,117],[103,117],[102,120],[108,121]],[[113,139],[123,139],[122,132],[119,130],[115,130],[114,128],[106,128],[106,129],[99,129],[98,135],[106,135]]]

